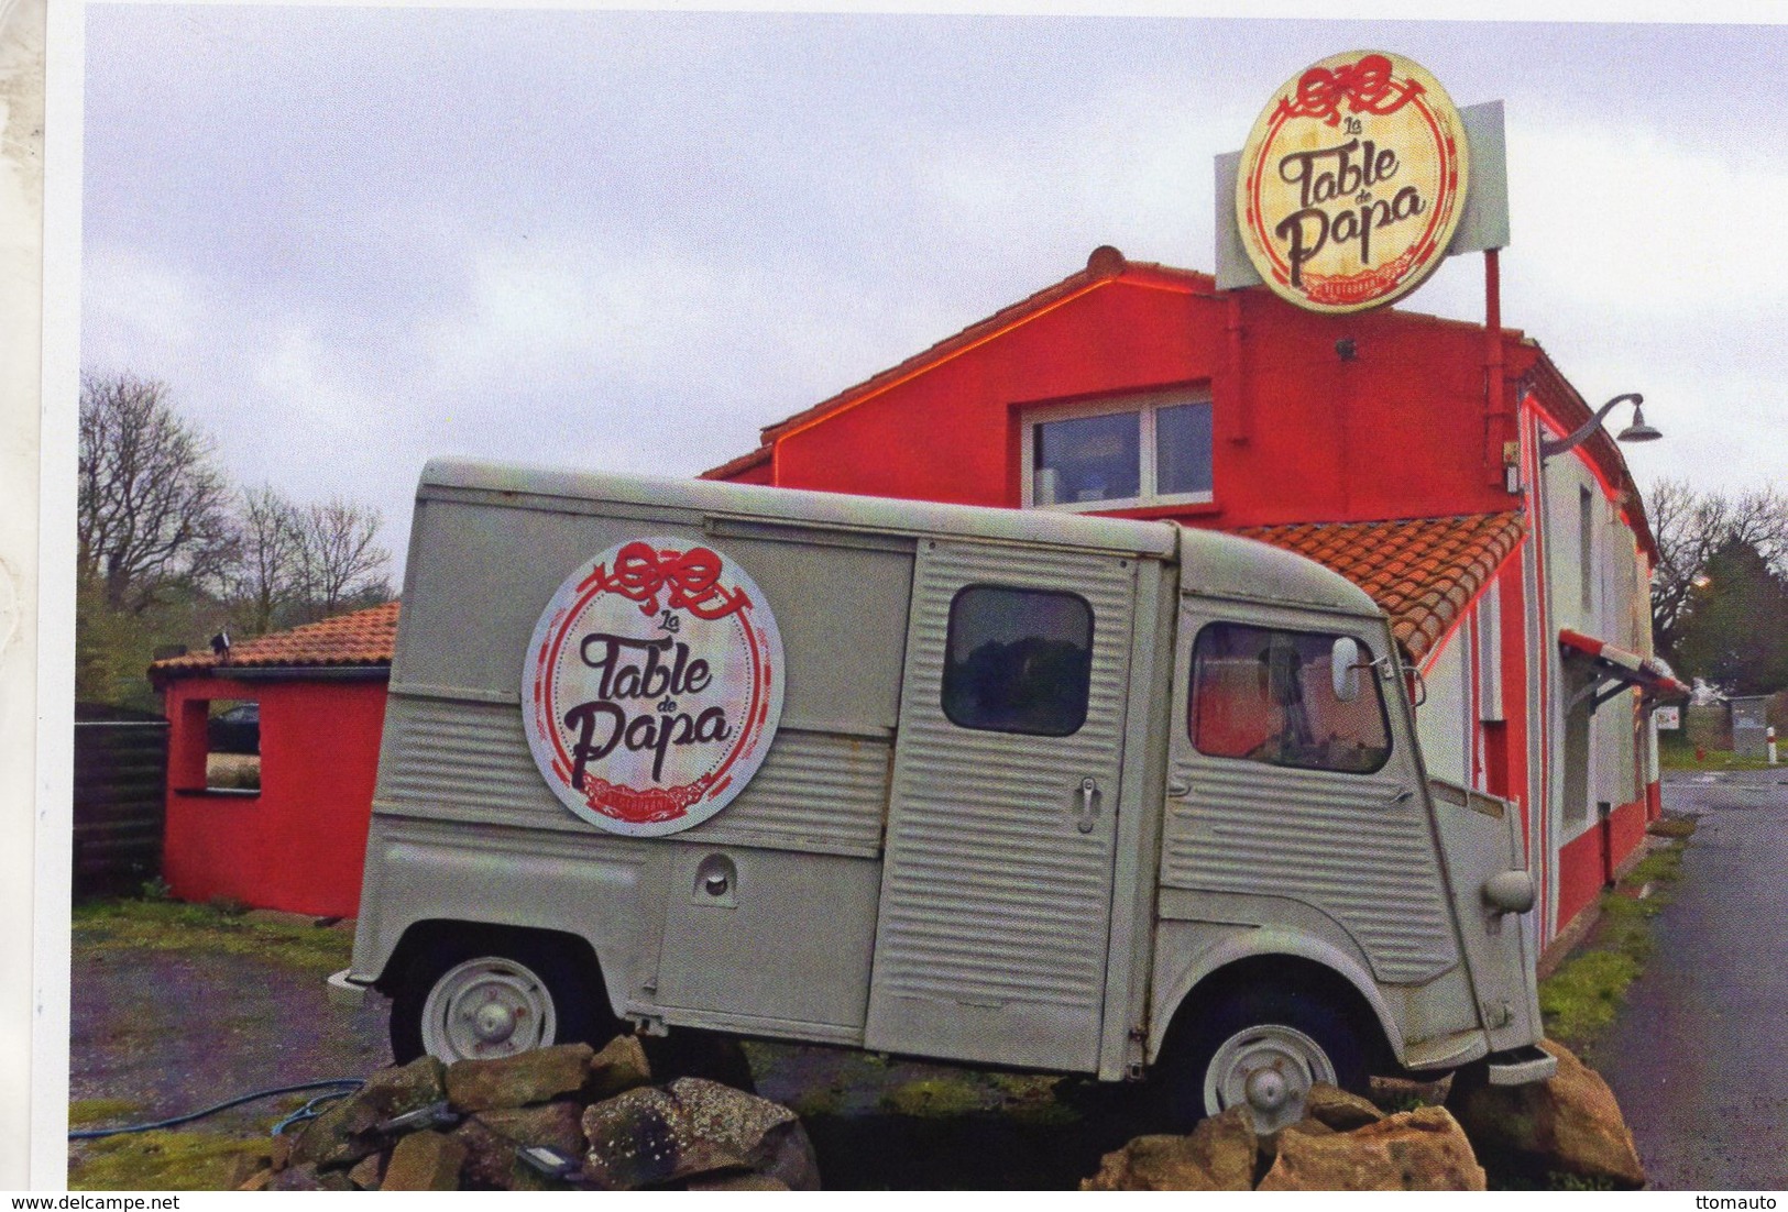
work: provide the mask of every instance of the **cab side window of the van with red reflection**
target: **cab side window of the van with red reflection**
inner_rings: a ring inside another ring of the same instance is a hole
[[[1214,622],[1193,649],[1187,731],[1198,753],[1305,770],[1371,774],[1391,758],[1384,697],[1371,669],[1336,697],[1337,636]],[[1371,660],[1359,645],[1359,663]]]

